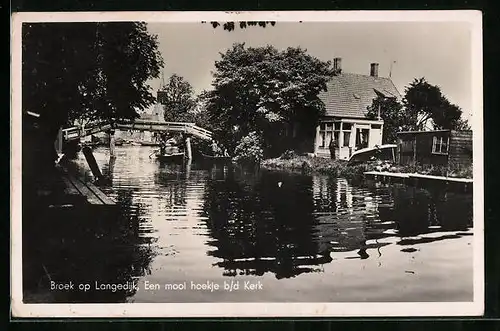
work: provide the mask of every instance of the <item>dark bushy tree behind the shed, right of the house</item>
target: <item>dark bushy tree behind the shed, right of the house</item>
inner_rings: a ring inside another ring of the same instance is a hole
[[[414,79],[406,87],[403,104],[413,130],[425,130],[430,123],[434,129],[455,129],[462,115],[460,107],[448,101],[439,86],[429,84],[425,78]]]

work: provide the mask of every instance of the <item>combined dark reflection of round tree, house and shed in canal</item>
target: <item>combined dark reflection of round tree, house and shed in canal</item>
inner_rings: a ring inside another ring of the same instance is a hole
[[[347,259],[380,258],[391,243],[459,238],[470,232],[445,232],[472,227],[471,196],[273,172],[210,182],[204,209],[210,245],[217,247],[210,254],[223,260],[216,265],[226,276],[295,277],[320,272],[335,252],[356,253]],[[428,236],[435,232],[441,234]]]

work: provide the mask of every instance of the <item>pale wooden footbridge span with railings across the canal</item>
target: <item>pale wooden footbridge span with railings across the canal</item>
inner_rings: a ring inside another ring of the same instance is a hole
[[[151,132],[182,132],[203,139],[212,140],[212,132],[187,122],[163,122],[137,119],[135,121],[117,121],[113,126],[120,130],[151,131]],[[62,139],[71,141],[111,129],[109,123],[96,123],[88,127],[74,126],[62,130]]]

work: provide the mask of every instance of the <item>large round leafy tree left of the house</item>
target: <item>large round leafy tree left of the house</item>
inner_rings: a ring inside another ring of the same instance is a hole
[[[277,153],[296,139],[312,138],[324,104],[318,93],[333,75],[301,48],[234,44],[215,63],[207,111],[219,141],[234,151],[239,140],[256,132],[265,153]],[[300,123],[300,127],[298,127]],[[289,134],[287,134],[287,132]]]

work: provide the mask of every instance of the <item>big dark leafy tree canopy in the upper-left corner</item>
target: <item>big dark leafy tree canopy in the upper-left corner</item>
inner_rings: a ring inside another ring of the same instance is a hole
[[[22,51],[23,108],[52,127],[138,117],[163,66],[145,23],[24,24]]]

